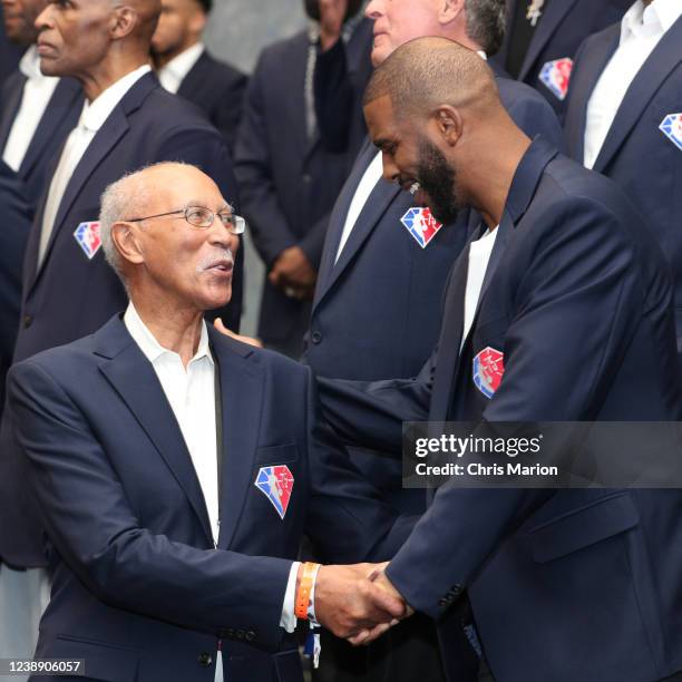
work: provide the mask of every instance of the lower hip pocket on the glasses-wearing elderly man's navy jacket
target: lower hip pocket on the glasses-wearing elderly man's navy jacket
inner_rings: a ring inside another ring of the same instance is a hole
[[[139,653],[134,649],[57,635],[48,650],[50,659],[82,659],[85,666],[79,674],[86,680],[135,682],[137,678]]]

